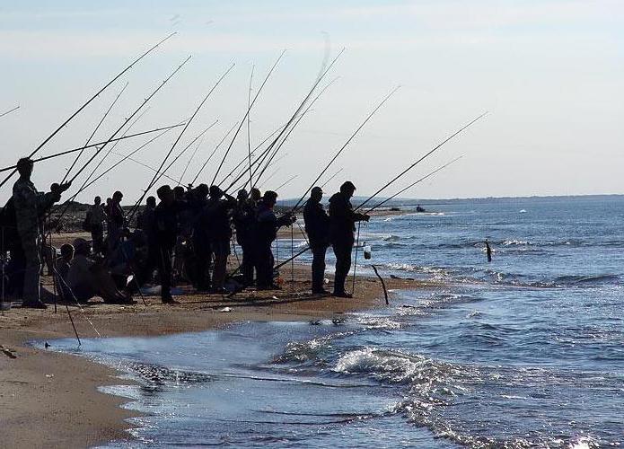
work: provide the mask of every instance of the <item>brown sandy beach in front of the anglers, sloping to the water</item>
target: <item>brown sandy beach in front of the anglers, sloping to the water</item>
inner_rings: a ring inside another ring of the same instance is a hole
[[[65,235],[58,241],[70,241]],[[176,296],[180,304],[161,304],[157,296],[140,296],[137,304],[119,306],[93,299],[79,309],[69,308],[80,337],[157,336],[174,332],[218,329],[237,321],[311,321],[340,313],[384,307],[381,283],[358,277],[353,299],[310,294],[310,268],[283,268],[281,290],[244,291],[222,295]],[[330,276],[330,279],[332,277]],[[424,284],[409,279],[384,279],[389,289],[415,289]],[[50,279],[44,278],[44,285]],[[391,299],[392,300],[392,299]],[[229,307],[229,312],[220,312]],[[92,325],[89,321],[92,322]],[[121,409],[124,398],[98,392],[101,385],[123,383],[113,370],[86,358],[32,348],[32,339],[74,338],[65,305],[48,310],[15,307],[0,313],[0,446],[85,447],[129,438]]]

